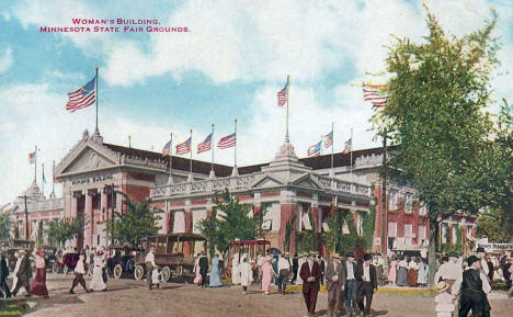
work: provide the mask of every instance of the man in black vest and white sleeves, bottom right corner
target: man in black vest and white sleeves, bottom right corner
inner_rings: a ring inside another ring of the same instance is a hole
[[[468,270],[463,272],[455,286],[461,285],[458,317],[467,317],[472,310],[475,317],[489,317],[490,304],[487,293],[491,292],[488,278],[481,272],[481,261],[476,256],[467,259]]]

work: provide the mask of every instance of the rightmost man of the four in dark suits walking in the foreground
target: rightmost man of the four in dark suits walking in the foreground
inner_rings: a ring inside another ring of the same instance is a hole
[[[356,265],[354,275],[358,281],[358,290],[356,292],[356,303],[358,304],[361,315],[368,316],[371,305],[373,304],[374,292],[377,290],[376,268],[371,264],[373,256],[365,254],[364,262]],[[365,297],[365,309],[364,301]]]

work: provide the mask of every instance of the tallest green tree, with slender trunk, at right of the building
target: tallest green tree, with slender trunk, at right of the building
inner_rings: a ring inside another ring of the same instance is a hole
[[[395,177],[409,183],[429,208],[430,271],[434,272],[438,215],[476,214],[497,186],[491,181],[493,124],[490,72],[498,60],[491,33],[497,14],[460,38],[446,34],[428,10],[430,34],[423,43],[397,38],[390,47],[388,102],[373,117],[389,134]],[[431,282],[432,282],[431,274]]]

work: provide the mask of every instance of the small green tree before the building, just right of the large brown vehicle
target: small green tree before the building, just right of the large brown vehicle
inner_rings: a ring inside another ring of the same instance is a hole
[[[225,252],[236,239],[248,240],[256,237],[262,222],[260,217],[248,216],[252,213],[250,204],[241,204],[228,190],[215,193],[214,202],[216,207],[210,216],[196,225],[209,242],[210,253],[216,249]]]

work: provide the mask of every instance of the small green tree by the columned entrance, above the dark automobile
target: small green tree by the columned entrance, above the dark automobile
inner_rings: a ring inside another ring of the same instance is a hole
[[[127,195],[124,196],[126,199],[126,212],[118,213],[114,217],[114,222],[109,224],[107,227],[117,244],[128,241],[132,245],[138,245],[140,238],[155,236],[159,231],[151,208],[151,200],[136,202]]]

